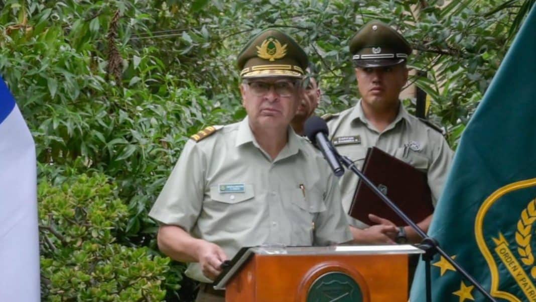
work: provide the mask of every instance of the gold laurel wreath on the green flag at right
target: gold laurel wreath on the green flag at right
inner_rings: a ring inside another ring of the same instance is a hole
[[[521,261],[526,266],[532,266],[531,276],[536,279],[536,266],[534,266],[534,255],[531,247],[532,224],[536,221],[536,199],[528,203],[521,212],[521,218],[517,222],[516,242],[517,252]]]

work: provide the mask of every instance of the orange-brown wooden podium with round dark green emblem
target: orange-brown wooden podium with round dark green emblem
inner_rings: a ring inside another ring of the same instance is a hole
[[[226,302],[406,302],[412,245],[252,247],[215,281]]]

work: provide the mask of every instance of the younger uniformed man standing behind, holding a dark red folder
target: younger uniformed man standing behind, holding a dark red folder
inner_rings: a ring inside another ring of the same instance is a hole
[[[445,182],[453,152],[436,127],[406,111],[399,94],[407,82],[406,58],[411,46],[402,35],[381,21],[364,25],[350,41],[350,52],[361,100],[339,114],[327,115],[330,137],[339,153],[361,166],[367,149],[376,146],[406,161],[428,177],[433,203]],[[346,173],[340,178],[343,207],[348,211],[358,177]],[[355,242],[363,244],[419,242],[410,227],[396,226],[382,217],[369,216],[377,223],[369,226],[351,220]],[[427,231],[431,215],[416,222]]]

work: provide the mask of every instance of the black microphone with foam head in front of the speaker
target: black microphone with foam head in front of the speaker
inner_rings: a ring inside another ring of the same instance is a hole
[[[333,170],[333,174],[339,177],[344,174],[344,168],[339,163],[339,153],[327,139],[329,132],[326,122],[318,116],[313,115],[305,121],[306,136],[312,144],[322,151],[324,158]]]

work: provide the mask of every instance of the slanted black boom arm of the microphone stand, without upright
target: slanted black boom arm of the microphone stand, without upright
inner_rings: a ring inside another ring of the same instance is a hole
[[[483,287],[478,283],[471,275],[469,275],[468,272],[465,271],[465,269],[461,268],[456,261],[454,261],[448,254],[446,254],[443,249],[439,247],[439,244],[434,238],[428,237],[428,235],[425,233],[425,231],[421,230],[421,228],[416,225],[409,217],[406,216],[406,214],[401,211],[396,204],[394,204],[387,196],[385,196],[378,188],[376,188],[376,185],[372,181],[370,181],[367,176],[363,175],[361,171],[359,171],[358,167],[355,166],[354,162],[349,159],[346,156],[341,156],[340,154],[336,154],[339,157],[340,163],[346,166],[348,170],[351,170],[355,174],[359,176],[359,178],[364,181],[367,186],[374,191],[376,195],[378,195],[381,200],[389,206],[394,212],[397,213],[397,215],[404,220],[409,226],[412,227],[415,232],[417,232],[421,238],[423,238],[422,242],[426,246],[430,246],[429,253],[427,256],[431,258],[435,253],[439,253],[441,256],[443,256],[446,261],[448,261],[450,264],[452,264],[453,267],[456,268],[456,270],[464,276],[471,284],[473,284],[478,291],[480,291],[486,298],[488,298],[490,301],[497,302],[495,298],[493,298]],[[430,293],[431,295],[431,293]]]

